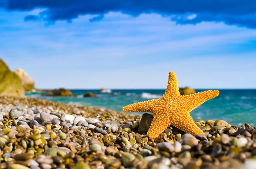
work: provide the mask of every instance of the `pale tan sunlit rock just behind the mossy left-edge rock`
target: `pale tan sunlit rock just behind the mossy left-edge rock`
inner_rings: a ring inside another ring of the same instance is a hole
[[[31,77],[29,77],[29,75],[26,72],[24,72],[22,69],[17,69],[15,73],[20,77],[25,92],[29,92],[35,89],[34,80]]]

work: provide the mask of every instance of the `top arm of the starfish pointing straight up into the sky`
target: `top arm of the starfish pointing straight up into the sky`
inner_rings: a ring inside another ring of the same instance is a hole
[[[166,87],[166,92],[163,95],[163,99],[169,100],[171,97],[176,97],[179,95],[180,95],[180,92],[179,92],[176,76],[174,72],[169,72],[168,84]]]

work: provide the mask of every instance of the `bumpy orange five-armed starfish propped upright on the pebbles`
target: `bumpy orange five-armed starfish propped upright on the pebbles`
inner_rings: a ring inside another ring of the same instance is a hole
[[[154,118],[147,135],[153,139],[170,125],[195,136],[200,133],[204,134],[204,132],[194,123],[189,112],[218,95],[218,90],[180,95],[176,76],[173,72],[169,72],[166,92],[161,99],[134,103],[123,107],[122,110],[124,112],[151,112]]]

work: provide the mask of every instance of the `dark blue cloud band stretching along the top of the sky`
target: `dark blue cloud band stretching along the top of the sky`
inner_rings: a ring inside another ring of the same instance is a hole
[[[121,11],[132,16],[157,13],[174,16],[179,24],[223,22],[256,28],[255,0],[6,0],[7,10],[31,11],[45,8],[38,17],[47,22],[70,21],[79,15],[97,14],[91,22],[102,20],[110,11]],[[187,17],[196,14],[194,18]]]

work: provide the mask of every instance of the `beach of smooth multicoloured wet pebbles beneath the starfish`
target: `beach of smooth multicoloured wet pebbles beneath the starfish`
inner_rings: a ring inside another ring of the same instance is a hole
[[[0,169],[256,169],[256,127],[197,120],[195,137],[152,115],[0,96]]]

